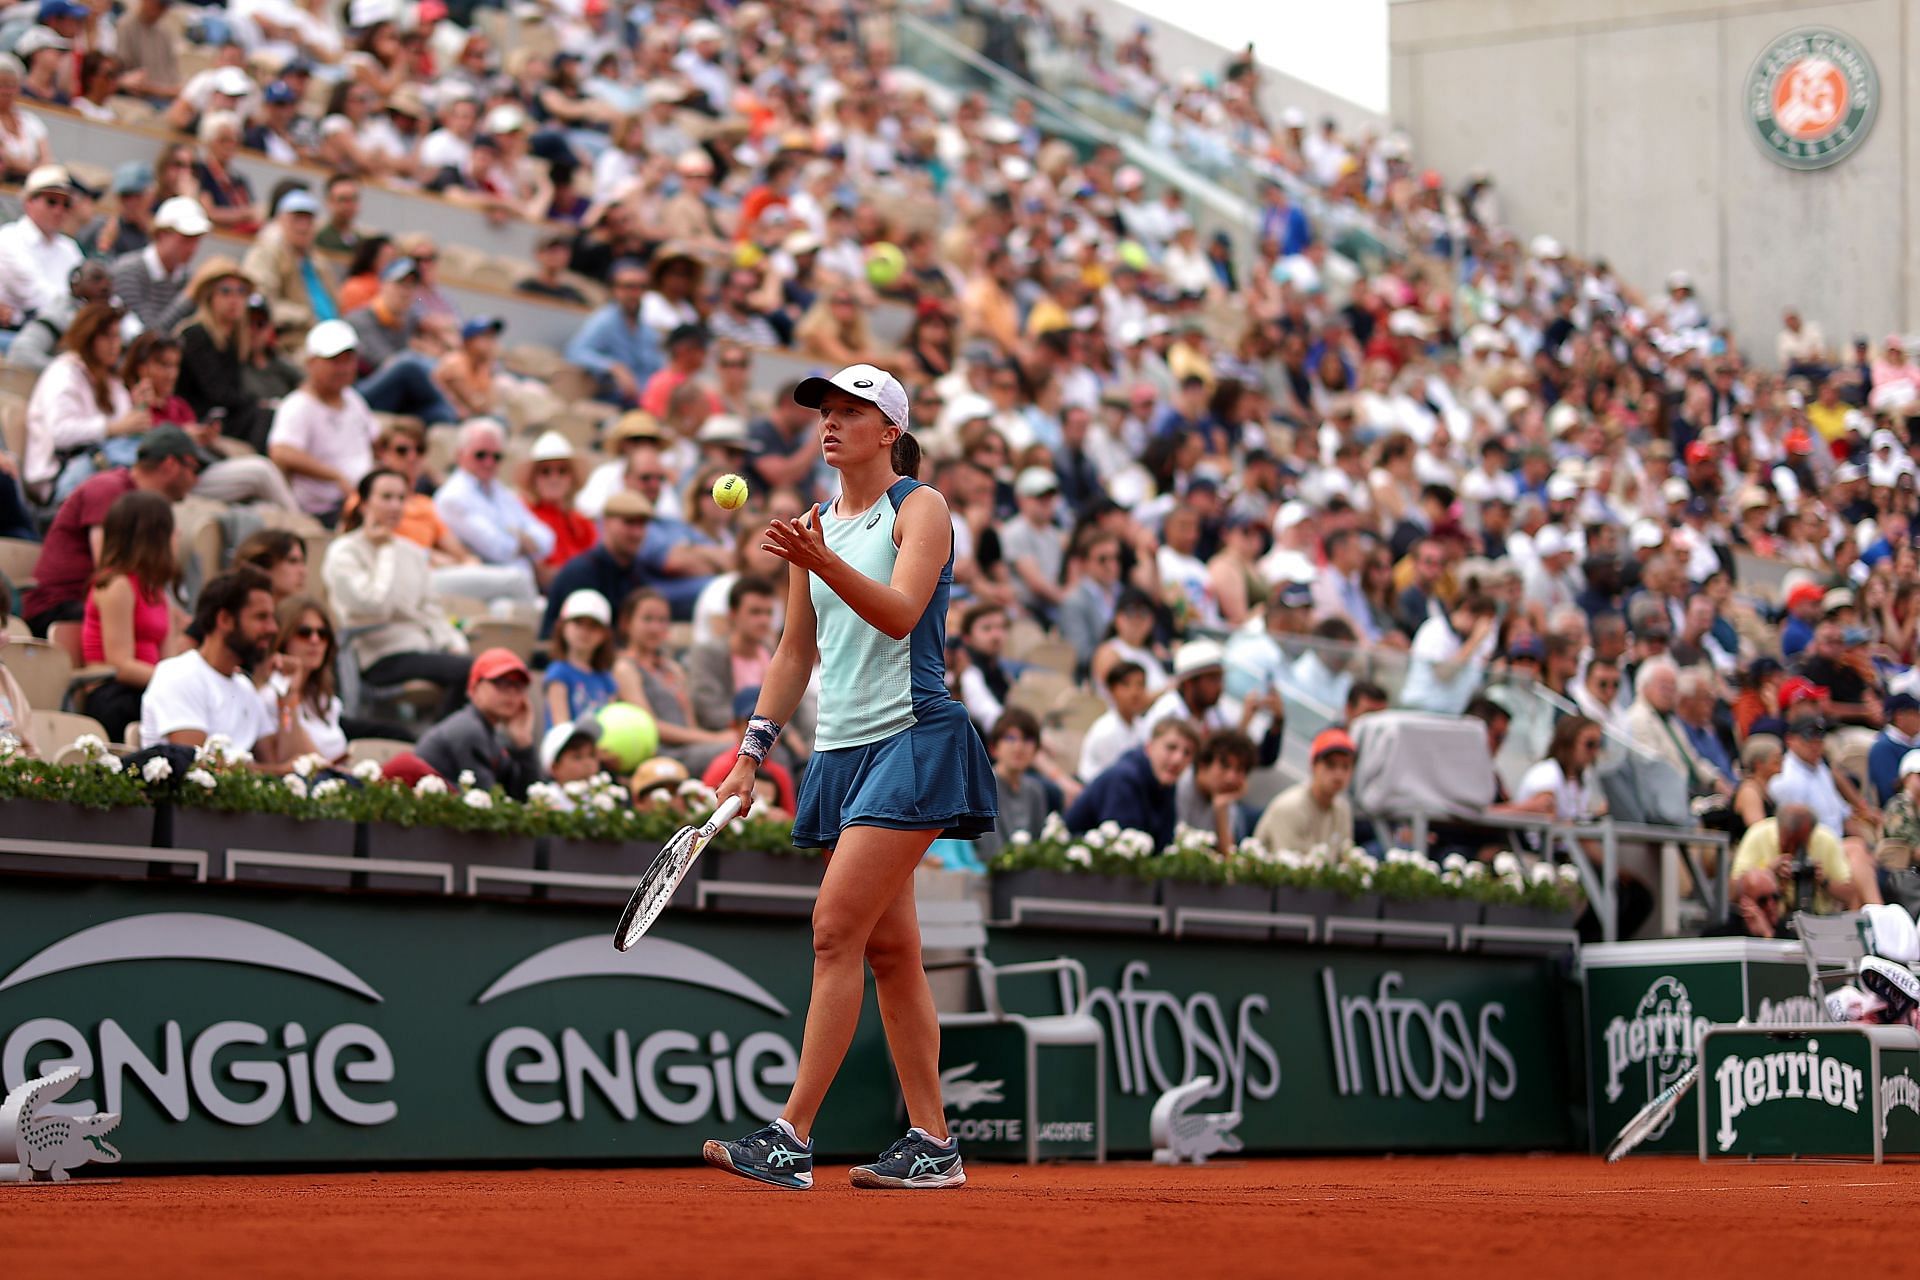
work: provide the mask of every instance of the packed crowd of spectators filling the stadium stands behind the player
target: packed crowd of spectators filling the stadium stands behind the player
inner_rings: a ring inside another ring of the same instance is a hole
[[[1419,741],[1348,733],[1388,710],[1484,725],[1490,814],[1738,839],[1803,806],[1862,900],[1914,858],[1897,334],[1734,336],[1684,271],[1517,238],[1488,175],[1269,119],[1250,58],[1165,73],[1041,6],[989,13],[998,61],[1250,219],[904,65],[864,4],[12,13],[0,574],[35,679],[0,737],[29,702],[138,733],[205,652],[344,756],[472,716],[505,651],[547,685],[488,722],[515,775],[612,699],[701,771],[781,622],[758,530],[833,495],[793,382],[870,361],[952,509],[948,677],[1002,837],[1108,794],[1390,844],[1409,814],[1329,781]],[[246,603],[242,545],[273,608],[205,616],[207,583]]]

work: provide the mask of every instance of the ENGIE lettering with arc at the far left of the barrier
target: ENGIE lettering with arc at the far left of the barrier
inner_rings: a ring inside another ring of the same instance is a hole
[[[359,975],[300,938],[198,912],[129,915],[83,929],[25,960],[0,979],[0,990],[123,960],[213,960],[278,969],[380,1004],[380,992]],[[180,1023],[167,1019],[159,1042],[156,1061],[111,1017],[100,1021],[94,1042],[73,1023],[33,1017],[13,1027],[0,1046],[0,1077],[8,1090],[65,1065],[79,1067],[83,1080],[100,1079],[102,1107],[92,1102],[48,1107],[61,1115],[121,1111],[129,1075],[175,1121],[184,1121],[194,1105],[227,1125],[265,1125],[288,1107],[300,1125],[313,1119],[315,1107],[348,1125],[386,1125],[399,1113],[394,1102],[369,1096],[376,1090],[367,1086],[392,1084],[394,1052],[380,1032],[361,1023],[309,1034],[300,1023],[269,1032],[250,1021],[219,1021],[200,1029],[188,1046]],[[46,1044],[58,1044],[61,1055],[35,1059],[35,1050]],[[240,1052],[227,1057],[228,1050]]]

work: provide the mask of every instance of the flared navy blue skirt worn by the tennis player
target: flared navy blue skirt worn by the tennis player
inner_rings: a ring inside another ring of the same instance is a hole
[[[893,737],[814,752],[793,816],[795,844],[833,848],[847,827],[939,831],[956,841],[993,831],[993,762],[966,706],[941,699],[914,712],[918,723]]]

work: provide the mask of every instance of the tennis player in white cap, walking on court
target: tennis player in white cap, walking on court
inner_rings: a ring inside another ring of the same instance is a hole
[[[820,727],[801,781],[793,842],[828,850],[814,902],[814,990],[787,1105],[739,1142],[708,1142],[707,1161],[774,1186],[814,1184],[814,1117],[839,1071],[860,990],[874,969],[887,1048],[912,1128],[854,1186],[966,1182],[941,1107],[941,1031],[920,965],[914,867],[941,835],[993,829],[987,750],[947,693],[947,499],[912,476],[906,388],[872,365],[808,378],[793,399],[820,411],[820,447],[841,493],[797,520],[774,520],[764,547],[789,576],[787,626],[760,683],[739,760],[718,794],[753,806],[753,777],[793,716],[820,660]],[[743,810],[745,812],[745,810]]]

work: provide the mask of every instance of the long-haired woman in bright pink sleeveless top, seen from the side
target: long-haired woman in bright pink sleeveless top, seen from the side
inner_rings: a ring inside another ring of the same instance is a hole
[[[113,668],[83,702],[109,741],[140,718],[154,664],[169,654],[179,628],[167,593],[177,578],[173,507],[159,493],[123,493],[100,524],[100,558],[81,622],[81,656]]]

